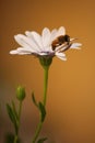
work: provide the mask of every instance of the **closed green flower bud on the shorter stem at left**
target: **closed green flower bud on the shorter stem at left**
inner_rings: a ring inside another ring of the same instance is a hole
[[[26,94],[25,94],[25,88],[19,86],[16,89],[16,98],[22,101],[25,98]]]

